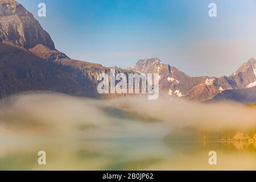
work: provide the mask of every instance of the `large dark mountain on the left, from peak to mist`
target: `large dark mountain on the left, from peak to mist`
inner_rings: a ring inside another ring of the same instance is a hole
[[[109,67],[69,59],[22,5],[0,0],[0,99],[28,92],[60,92],[101,97],[99,73]],[[116,72],[130,73],[117,68]],[[104,96],[108,97],[108,96]]]

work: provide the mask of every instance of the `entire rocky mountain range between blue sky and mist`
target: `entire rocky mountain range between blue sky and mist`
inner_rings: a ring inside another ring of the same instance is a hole
[[[159,73],[160,94],[199,102],[256,102],[256,60],[251,58],[231,76],[191,77],[159,59],[139,60],[117,73]],[[55,49],[49,34],[22,5],[0,0],[0,98],[34,91],[101,97],[98,73],[110,67],[70,59]],[[108,96],[105,96],[108,97]]]

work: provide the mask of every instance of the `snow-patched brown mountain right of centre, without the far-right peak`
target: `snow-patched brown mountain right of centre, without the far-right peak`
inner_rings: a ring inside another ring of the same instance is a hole
[[[127,69],[139,73],[159,73],[160,93],[200,102],[213,98],[223,90],[234,89],[237,85],[230,77],[188,76],[169,64],[163,64],[158,58],[139,60]]]

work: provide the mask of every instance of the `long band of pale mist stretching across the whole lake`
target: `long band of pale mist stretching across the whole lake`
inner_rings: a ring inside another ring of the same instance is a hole
[[[233,102],[199,104],[182,99],[123,97],[92,100],[63,94],[15,96],[0,109],[2,134],[65,139],[163,138],[176,127],[205,131],[249,129],[255,109]]]

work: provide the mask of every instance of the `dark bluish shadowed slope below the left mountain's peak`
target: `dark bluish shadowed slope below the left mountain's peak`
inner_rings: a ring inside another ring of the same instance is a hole
[[[0,44],[0,70],[1,98],[36,90],[97,96],[95,83],[79,68],[40,59],[11,44]]]

